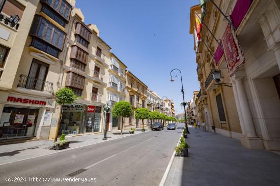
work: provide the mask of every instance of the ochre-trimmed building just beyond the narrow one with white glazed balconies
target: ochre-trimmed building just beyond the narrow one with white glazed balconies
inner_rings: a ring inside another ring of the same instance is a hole
[[[137,108],[147,108],[147,88],[148,86],[134,76],[130,71],[126,71],[126,96],[127,102],[130,102],[133,112],[129,118],[125,118],[124,129],[142,127],[142,120],[135,119],[134,113]],[[144,120],[144,126],[147,126],[147,119]]]

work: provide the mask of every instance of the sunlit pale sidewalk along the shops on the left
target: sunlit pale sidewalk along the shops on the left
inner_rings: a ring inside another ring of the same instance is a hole
[[[128,132],[129,130],[123,131],[123,135],[120,135],[121,131],[116,131],[114,133],[108,132],[107,133],[107,140],[102,140],[103,134],[89,134],[89,135],[81,135],[75,137],[66,137],[69,139],[70,148],[64,150],[71,150],[73,148],[78,148],[82,146],[87,146],[91,144],[96,144],[104,141],[110,141],[122,137],[131,136]],[[149,132],[150,130],[146,130],[145,133]],[[134,134],[141,134],[141,129],[136,129]],[[53,140],[38,140],[38,141],[29,141],[24,143],[15,143],[15,144],[8,144],[8,145],[1,145],[0,146],[0,165],[6,164],[9,162],[20,161],[24,159],[30,159],[38,156],[44,156],[46,154],[57,153],[58,151],[64,150],[52,150]]]

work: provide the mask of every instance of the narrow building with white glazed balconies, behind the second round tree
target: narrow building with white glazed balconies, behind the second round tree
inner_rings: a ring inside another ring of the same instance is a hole
[[[111,108],[119,101],[125,101],[125,86],[126,86],[126,66],[114,54],[110,53],[110,63],[108,69],[108,85],[107,85],[107,101]],[[109,123],[108,130],[121,130],[121,117],[114,118],[113,114],[108,113]]]

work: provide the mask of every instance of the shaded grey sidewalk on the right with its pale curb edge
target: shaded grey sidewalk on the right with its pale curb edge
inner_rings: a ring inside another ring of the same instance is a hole
[[[189,128],[189,157],[175,157],[165,185],[280,185],[280,156],[240,141]]]

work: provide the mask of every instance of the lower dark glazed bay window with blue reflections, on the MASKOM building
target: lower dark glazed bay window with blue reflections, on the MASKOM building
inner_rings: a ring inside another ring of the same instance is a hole
[[[49,21],[47,21],[45,18],[43,18],[40,15],[35,16],[30,35],[42,39],[44,42],[59,49],[59,51],[62,51],[65,36],[66,36],[66,34],[62,30],[60,30],[58,27],[51,24]],[[32,46],[45,51],[43,49],[45,47],[35,45],[33,42],[32,42]],[[48,53],[47,50],[45,52]]]

